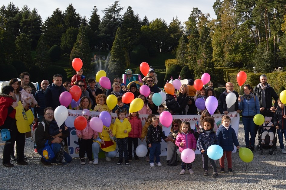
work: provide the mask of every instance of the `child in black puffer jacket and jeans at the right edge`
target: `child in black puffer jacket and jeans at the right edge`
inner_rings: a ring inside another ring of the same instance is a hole
[[[273,122],[274,126],[277,130],[278,138],[279,138],[279,145],[281,148],[281,152],[286,154],[286,150],[284,148],[283,143],[283,134],[284,138],[286,139],[286,115],[284,113],[284,104],[281,102],[280,98],[277,100],[278,106],[277,110],[274,114]]]

